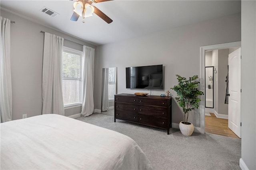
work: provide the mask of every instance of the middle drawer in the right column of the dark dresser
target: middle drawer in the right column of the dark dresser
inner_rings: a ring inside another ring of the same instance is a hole
[[[137,112],[143,115],[152,115],[156,117],[168,118],[168,109],[163,109],[161,107],[150,107],[138,105]]]

